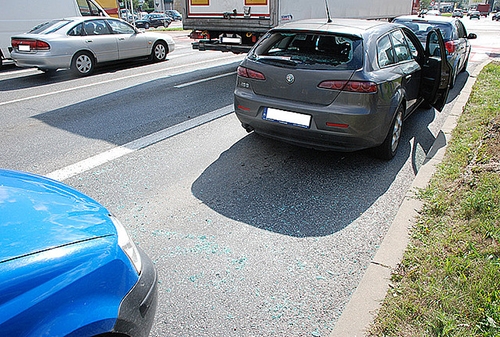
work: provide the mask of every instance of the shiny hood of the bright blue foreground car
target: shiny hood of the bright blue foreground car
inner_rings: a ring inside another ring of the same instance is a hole
[[[0,170],[0,263],[55,247],[116,235],[93,199],[40,176]]]

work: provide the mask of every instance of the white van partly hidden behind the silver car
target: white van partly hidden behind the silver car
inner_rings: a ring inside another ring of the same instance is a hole
[[[108,16],[93,0],[0,0],[0,67],[10,59],[10,37],[73,16]]]

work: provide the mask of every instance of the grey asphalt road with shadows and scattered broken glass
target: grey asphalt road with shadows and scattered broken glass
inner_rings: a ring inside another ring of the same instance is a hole
[[[466,24],[482,34],[473,69],[500,23]],[[231,113],[241,56],[172,34],[160,64],[0,71],[0,167],[61,179],[122,220],[158,270],[151,336],[327,336],[448,109],[411,116],[391,162],[270,141]]]

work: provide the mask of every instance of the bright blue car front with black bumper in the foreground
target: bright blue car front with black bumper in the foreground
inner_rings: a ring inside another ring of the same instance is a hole
[[[148,336],[156,270],[106,208],[0,170],[0,228],[2,336]]]

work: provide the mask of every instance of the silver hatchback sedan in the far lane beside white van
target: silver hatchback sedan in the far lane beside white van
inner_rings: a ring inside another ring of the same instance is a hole
[[[98,63],[138,57],[163,61],[175,49],[169,35],[141,32],[109,17],[53,20],[13,36],[11,45],[12,59],[19,67],[44,72],[70,68],[80,76],[90,75]]]

